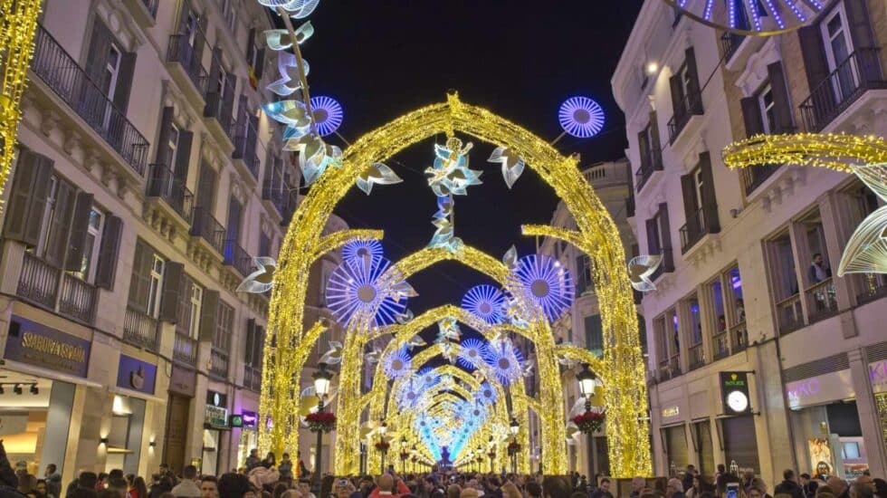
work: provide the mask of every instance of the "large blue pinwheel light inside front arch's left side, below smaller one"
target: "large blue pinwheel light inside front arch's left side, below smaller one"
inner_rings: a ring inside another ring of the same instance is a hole
[[[406,310],[406,297],[398,292],[401,283],[384,283],[381,276],[391,262],[383,257],[345,260],[329,276],[327,305],[342,325],[352,321],[377,329],[396,321]],[[387,279],[386,279],[387,280]]]

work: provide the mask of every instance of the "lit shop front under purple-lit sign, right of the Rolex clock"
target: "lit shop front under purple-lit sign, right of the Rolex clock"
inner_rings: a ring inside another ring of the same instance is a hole
[[[801,472],[854,479],[868,470],[850,369],[786,385]]]

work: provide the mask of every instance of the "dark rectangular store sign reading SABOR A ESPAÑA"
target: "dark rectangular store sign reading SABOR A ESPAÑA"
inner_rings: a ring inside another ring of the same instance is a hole
[[[86,377],[90,349],[89,340],[13,315],[4,358]]]

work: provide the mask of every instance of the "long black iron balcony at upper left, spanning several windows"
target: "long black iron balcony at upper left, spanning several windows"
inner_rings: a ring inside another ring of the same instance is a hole
[[[31,70],[112,148],[139,177],[145,176],[148,140],[93,83],[43,26],[34,38]]]

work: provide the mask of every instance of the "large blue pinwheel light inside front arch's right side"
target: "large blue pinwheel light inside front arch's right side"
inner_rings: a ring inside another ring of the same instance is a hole
[[[556,321],[573,304],[576,286],[567,268],[544,254],[518,260],[505,289],[517,303],[520,318],[534,321],[544,316]]]

